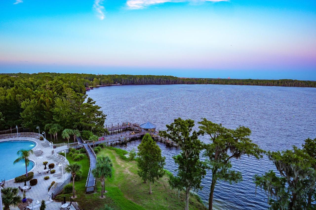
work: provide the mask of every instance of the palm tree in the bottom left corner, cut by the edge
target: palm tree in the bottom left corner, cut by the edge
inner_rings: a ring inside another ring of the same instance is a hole
[[[10,210],[10,206],[17,207],[22,198],[19,194],[19,189],[16,187],[6,187],[1,189],[2,202],[4,205],[4,210]]]

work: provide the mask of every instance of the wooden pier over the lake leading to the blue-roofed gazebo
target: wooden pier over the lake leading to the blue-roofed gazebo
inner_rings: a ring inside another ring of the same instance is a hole
[[[146,133],[149,133],[150,136],[156,140],[165,143],[168,146],[178,146],[172,140],[168,138],[161,137],[159,131],[155,129],[142,129],[137,123],[122,123],[118,125],[111,125],[105,127],[110,134],[105,134],[102,137],[99,137],[99,141],[93,143],[93,141],[84,141],[89,145],[98,145],[100,143],[105,143],[106,145],[116,144],[116,143],[127,143],[129,141],[135,140],[137,138],[142,138]],[[125,132],[127,131],[127,132]],[[122,133],[125,132],[125,133]],[[119,134],[121,133],[121,134]]]

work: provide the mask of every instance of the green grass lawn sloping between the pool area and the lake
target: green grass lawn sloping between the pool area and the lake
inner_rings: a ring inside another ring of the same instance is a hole
[[[113,162],[113,176],[106,179],[104,195],[105,198],[100,199],[101,184],[97,180],[97,192],[93,194],[85,194],[85,184],[89,170],[89,160],[85,157],[83,160],[77,161],[82,165],[82,179],[75,182],[75,190],[79,207],[82,210],[103,207],[108,204],[114,209],[184,209],[185,195],[171,190],[168,184],[168,177],[165,175],[159,181],[152,184],[152,194],[149,195],[149,183],[144,184],[137,175],[136,161],[126,160],[122,157],[124,150],[104,148],[97,156],[109,156]],[[68,158],[70,163],[74,162]],[[66,194],[69,198],[71,194]],[[64,194],[56,197],[59,201],[63,201]],[[92,208],[93,207],[93,208]],[[197,197],[190,196],[190,209],[206,209]]]

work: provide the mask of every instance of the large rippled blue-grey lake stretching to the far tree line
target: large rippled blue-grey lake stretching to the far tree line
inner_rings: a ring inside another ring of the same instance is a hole
[[[251,139],[265,150],[301,147],[307,137],[316,137],[316,88],[240,85],[122,85],[94,88],[88,96],[107,114],[106,124],[150,121],[158,130],[175,118],[197,122],[205,117],[227,128],[249,127]],[[210,142],[208,136],[200,138]],[[137,149],[139,140],[121,145]],[[172,159],[179,149],[158,142],[166,156],[166,169],[176,169]],[[215,209],[266,209],[264,192],[255,196],[254,174],[275,166],[267,157],[261,160],[243,156],[232,160],[233,168],[243,174],[238,184],[219,182],[214,192]],[[202,180],[198,195],[205,204],[210,192],[210,172]],[[155,190],[155,188],[153,189]]]

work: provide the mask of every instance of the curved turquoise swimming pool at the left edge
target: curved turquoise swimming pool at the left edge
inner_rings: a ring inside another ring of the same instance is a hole
[[[4,178],[9,180],[25,174],[25,163],[19,162],[13,165],[13,161],[18,158],[17,151],[33,149],[35,146],[35,142],[27,140],[0,142],[0,181]],[[31,170],[33,166],[34,163],[31,161],[27,171]]]

